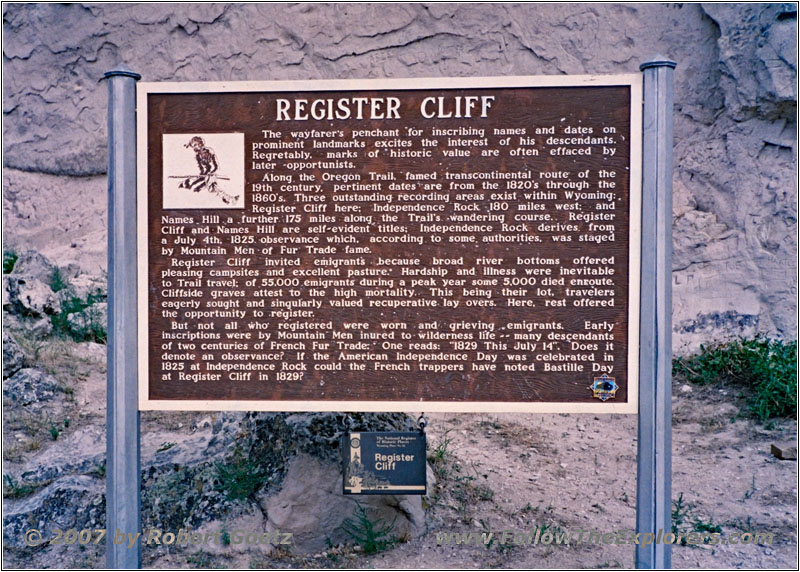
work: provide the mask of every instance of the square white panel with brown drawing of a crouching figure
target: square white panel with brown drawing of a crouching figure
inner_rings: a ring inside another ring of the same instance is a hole
[[[163,208],[244,208],[243,133],[170,133],[163,148]]]

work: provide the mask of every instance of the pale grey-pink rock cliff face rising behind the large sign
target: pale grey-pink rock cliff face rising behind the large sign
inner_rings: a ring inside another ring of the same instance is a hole
[[[106,89],[146,81],[634,72],[675,93],[674,344],[796,337],[796,6],[4,8],[5,241],[105,264]]]

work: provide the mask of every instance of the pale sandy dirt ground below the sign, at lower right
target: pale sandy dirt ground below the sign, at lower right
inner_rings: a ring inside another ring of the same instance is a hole
[[[741,417],[722,386],[673,397],[673,518],[681,532],[718,531],[716,545],[673,545],[673,568],[797,569],[797,462],[770,453],[796,443],[795,421],[765,428]],[[636,515],[636,416],[430,415],[428,531],[377,554],[334,548],[312,557],[215,556],[205,567],[631,568],[634,546],[440,545],[449,532],[632,530]],[[430,483],[429,483],[430,487]],[[734,534],[772,533],[771,545],[732,544]],[[588,534],[588,533],[587,533]],[[178,567],[179,558],[152,566]],[[186,560],[182,562],[185,566]]]

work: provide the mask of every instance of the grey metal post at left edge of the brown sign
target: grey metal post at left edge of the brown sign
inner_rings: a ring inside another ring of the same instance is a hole
[[[136,81],[125,68],[108,79],[108,350],[106,565],[141,568],[141,545],[115,544],[142,530],[136,313]]]

